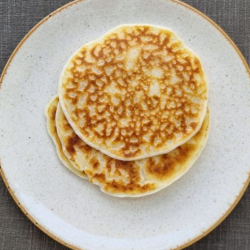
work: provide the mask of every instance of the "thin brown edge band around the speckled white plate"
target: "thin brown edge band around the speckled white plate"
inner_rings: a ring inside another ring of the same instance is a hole
[[[56,14],[60,13],[63,10],[66,10],[68,7],[73,6],[75,4],[78,4],[80,2],[84,2],[86,0],[74,0],[72,2],[69,2],[61,7],[59,7],[58,9],[54,10],[53,12],[51,12],[50,14],[48,14],[47,16],[45,16],[42,20],[40,20],[32,29],[30,29],[30,31],[28,31],[28,33],[22,38],[22,40],[18,43],[18,45],[15,47],[14,51],[12,52],[11,56],[9,57],[7,63],[5,64],[2,74],[0,76],[0,91],[1,91],[1,85],[2,82],[4,81],[4,76],[7,73],[7,70],[13,60],[13,58],[15,57],[16,53],[18,52],[18,50],[22,47],[22,45],[26,42],[26,40],[29,38],[30,35],[32,35],[32,33],[34,31],[36,31],[37,28],[39,28],[42,24],[44,24],[46,21],[48,21],[51,17],[55,16]],[[207,15],[205,15],[203,12],[201,12],[200,10],[197,10],[195,7],[182,2],[181,0],[165,0],[167,2],[171,2],[171,3],[175,3],[175,4],[179,4],[182,7],[198,14],[200,17],[202,17],[203,19],[207,20],[212,26],[214,26],[223,36],[224,38],[230,43],[230,45],[233,47],[233,49],[235,50],[235,52],[238,54],[239,58],[241,59],[243,65],[245,66],[245,69],[248,73],[249,79],[250,79],[250,67],[246,61],[246,59],[244,58],[244,56],[242,55],[240,49],[238,48],[238,46],[235,44],[235,42],[229,37],[229,35],[215,22],[213,21],[210,17],[208,17]],[[42,225],[38,224],[36,222],[36,219],[29,215],[29,213],[27,212],[27,210],[22,206],[22,204],[19,202],[17,196],[15,195],[15,193],[13,192],[13,190],[10,188],[8,180],[5,176],[5,173],[1,167],[1,160],[0,160],[0,175],[3,179],[3,182],[8,190],[8,192],[10,193],[12,199],[15,201],[16,205],[21,209],[21,211],[24,213],[24,215],[37,227],[39,228],[43,233],[45,233],[47,236],[49,236],[50,238],[52,238],[53,240],[57,241],[58,243],[72,249],[72,250],[87,250],[84,248],[79,248],[76,247],[72,244],[68,244],[65,241],[63,241],[63,239],[57,237],[56,235],[54,235],[53,233],[49,232],[46,228],[44,228]],[[216,227],[218,227],[228,216],[229,214],[234,210],[234,208],[237,206],[237,204],[239,203],[239,201],[241,200],[242,196],[244,195],[245,191],[247,190],[248,186],[250,184],[250,173],[248,173],[248,178],[245,181],[243,188],[241,189],[240,193],[238,194],[238,196],[235,198],[235,201],[233,202],[233,204],[228,208],[228,210],[221,215],[221,217],[207,230],[205,230],[203,233],[201,233],[199,236],[195,237],[192,240],[189,240],[188,242],[172,249],[172,250],[182,250],[188,246],[193,245],[194,243],[196,243],[197,241],[201,240],[202,238],[204,238],[205,236],[207,236],[209,233],[211,233]]]

